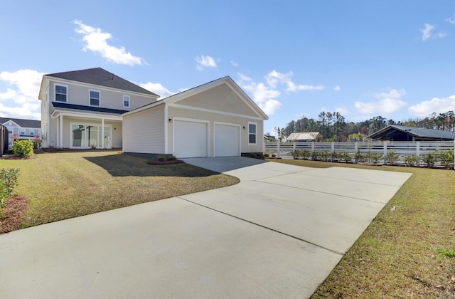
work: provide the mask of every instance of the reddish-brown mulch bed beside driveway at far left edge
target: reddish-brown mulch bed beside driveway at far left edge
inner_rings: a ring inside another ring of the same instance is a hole
[[[21,229],[23,213],[27,208],[27,198],[22,195],[11,197],[3,207],[4,216],[0,217],[0,234]]]

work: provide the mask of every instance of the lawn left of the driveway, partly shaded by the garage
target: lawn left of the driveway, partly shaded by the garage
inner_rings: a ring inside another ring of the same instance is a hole
[[[20,169],[14,193],[28,199],[22,228],[239,182],[189,164],[148,160],[116,151],[54,152],[0,159],[0,168]]]

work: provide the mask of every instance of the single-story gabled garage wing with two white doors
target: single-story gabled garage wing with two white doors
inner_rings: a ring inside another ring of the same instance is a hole
[[[123,151],[176,157],[262,152],[268,117],[229,76],[122,114]]]

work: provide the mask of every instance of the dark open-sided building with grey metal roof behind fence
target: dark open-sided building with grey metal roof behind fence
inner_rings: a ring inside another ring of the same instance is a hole
[[[389,125],[368,136],[375,140],[390,141],[439,141],[455,140],[455,132],[420,129],[402,125]]]

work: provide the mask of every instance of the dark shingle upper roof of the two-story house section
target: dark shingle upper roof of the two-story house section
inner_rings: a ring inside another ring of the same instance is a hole
[[[133,91],[135,93],[144,93],[146,95],[156,95],[145,88],[141,88],[139,85],[129,82],[124,78],[120,78],[113,73],[109,73],[107,70],[102,68],[88,68],[86,70],[73,70],[70,72],[53,73],[46,75],[48,77],[61,78],[66,80],[72,80],[77,82],[89,83],[94,85],[105,86],[109,88],[116,88],[120,90]]]

